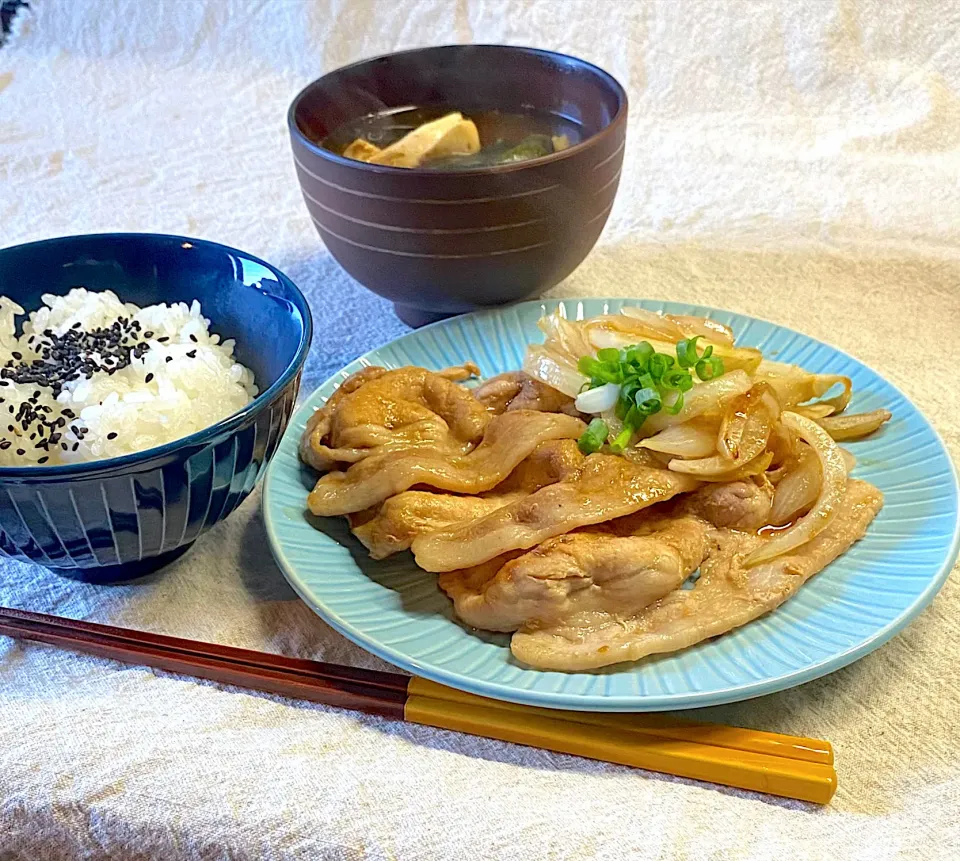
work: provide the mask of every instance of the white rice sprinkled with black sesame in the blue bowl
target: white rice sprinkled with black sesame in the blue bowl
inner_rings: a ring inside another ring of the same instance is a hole
[[[50,345],[46,332],[59,337],[74,328],[93,332],[129,320],[125,328],[131,334],[123,343],[145,343],[146,351],[113,373],[97,370],[89,379],[81,375],[66,381],[56,397],[54,389],[42,383],[0,379],[0,465],[73,463],[143,451],[209,427],[257,395],[253,373],[233,358],[234,342],[210,332],[210,321],[196,300],[189,306],[180,302],[139,308],[109,291],[74,288],[65,296],[47,294],[43,302],[18,339],[15,317],[24,311],[0,297],[0,377],[40,358],[40,351]],[[89,355],[98,364],[103,359],[98,352]],[[23,402],[32,407],[28,413],[39,413],[26,428],[16,420]],[[64,422],[57,427],[61,416]],[[38,427],[41,421],[43,428]],[[31,434],[36,436],[30,439]],[[55,443],[36,447],[51,434],[58,434]]]

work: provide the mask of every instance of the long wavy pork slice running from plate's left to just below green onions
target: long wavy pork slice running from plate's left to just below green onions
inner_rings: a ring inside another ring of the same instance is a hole
[[[583,422],[572,416],[504,413],[490,421],[481,443],[467,454],[418,447],[370,455],[346,472],[321,476],[307,505],[314,514],[330,517],[371,508],[414,485],[481,493],[496,487],[540,443],[576,439],[583,430]]]

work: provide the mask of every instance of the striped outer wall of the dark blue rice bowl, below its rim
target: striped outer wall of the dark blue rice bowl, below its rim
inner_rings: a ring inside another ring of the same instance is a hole
[[[239,429],[90,478],[4,479],[0,551],[88,581],[165,564],[226,518],[273,457],[299,378]]]

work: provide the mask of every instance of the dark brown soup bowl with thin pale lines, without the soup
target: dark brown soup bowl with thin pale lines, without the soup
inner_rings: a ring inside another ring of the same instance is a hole
[[[346,122],[404,106],[535,110],[581,143],[509,165],[437,171],[323,149]],[[547,290],[587,256],[620,180],[627,94],[551,51],[452,45],[364,60],[310,84],[289,113],[297,175],[330,253],[413,326]]]

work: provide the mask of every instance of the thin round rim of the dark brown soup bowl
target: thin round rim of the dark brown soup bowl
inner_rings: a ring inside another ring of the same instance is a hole
[[[590,137],[580,141],[580,143],[574,144],[571,147],[567,147],[567,149],[561,150],[560,152],[550,153],[549,155],[543,155],[537,158],[525,159],[523,161],[513,162],[512,164],[494,164],[487,165],[485,167],[468,167],[463,168],[462,170],[450,171],[438,171],[424,167],[394,167],[393,165],[370,164],[369,162],[359,161],[358,159],[346,158],[345,156],[337,155],[335,152],[331,152],[328,149],[324,149],[319,144],[311,141],[297,124],[296,113],[300,103],[306,99],[310,91],[314,89],[314,87],[316,87],[321,81],[324,81],[333,75],[339,75],[359,66],[365,66],[370,63],[378,62],[379,60],[402,57],[407,54],[421,54],[425,51],[457,50],[462,48],[494,48],[506,52],[542,54],[549,57],[561,58],[563,60],[572,60],[574,63],[591,70],[597,77],[603,79],[617,97],[617,100],[620,103],[619,107],[617,108],[617,112],[610,118],[610,122],[600,129],[600,131],[598,131],[596,134],[590,135]],[[561,51],[551,51],[547,48],[534,48],[528,45],[503,45],[492,42],[468,42],[452,45],[426,45],[421,48],[410,48],[405,51],[391,51],[387,54],[379,54],[374,57],[367,57],[365,59],[357,60],[353,63],[347,63],[344,66],[339,66],[336,69],[332,69],[331,71],[321,75],[319,78],[311,81],[302,90],[300,90],[296,96],[294,96],[294,99],[290,103],[290,107],[287,110],[287,126],[290,130],[290,137],[300,146],[303,146],[320,158],[344,167],[354,168],[357,170],[366,171],[368,173],[383,174],[386,176],[485,176],[491,174],[512,173],[514,171],[524,170],[528,167],[539,167],[541,165],[552,164],[554,162],[560,162],[568,158],[573,158],[574,156],[595,146],[609,135],[614,134],[620,123],[626,119],[629,108],[629,97],[627,96],[627,91],[623,84],[621,84],[608,71],[602,69],[595,63],[591,63],[589,60],[583,60],[580,57],[573,56],[572,54],[564,54]]]

